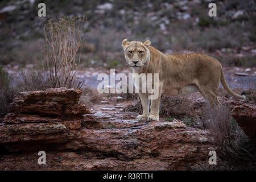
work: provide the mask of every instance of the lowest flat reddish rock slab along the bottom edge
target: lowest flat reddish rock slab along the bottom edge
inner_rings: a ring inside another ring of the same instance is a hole
[[[131,161],[106,157],[97,152],[47,152],[46,165],[38,164],[38,153],[6,155],[0,158],[0,170],[174,170],[170,163],[159,159]],[[15,164],[15,165],[14,165]]]

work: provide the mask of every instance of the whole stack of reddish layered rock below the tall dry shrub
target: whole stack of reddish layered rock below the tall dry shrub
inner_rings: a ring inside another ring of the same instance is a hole
[[[78,104],[80,96],[80,90],[68,88],[16,94],[0,126],[0,143],[9,151],[27,151],[76,139],[82,115],[90,113]]]

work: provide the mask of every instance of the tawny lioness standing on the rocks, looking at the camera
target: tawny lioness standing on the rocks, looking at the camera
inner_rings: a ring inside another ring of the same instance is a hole
[[[220,106],[217,99],[218,85],[221,84],[234,98],[245,100],[234,93],[226,83],[222,66],[213,57],[199,53],[166,55],[150,46],[150,41],[129,42],[123,39],[125,59],[133,73],[159,73],[159,96],[151,100],[150,113],[147,93],[139,93],[143,107],[139,120],[159,121],[159,102],[161,94],[177,96],[200,92],[212,106]],[[137,85],[135,85],[136,87]]]

